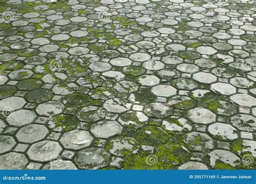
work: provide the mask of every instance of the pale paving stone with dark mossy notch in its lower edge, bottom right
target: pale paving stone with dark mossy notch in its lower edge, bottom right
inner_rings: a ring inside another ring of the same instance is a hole
[[[214,167],[216,165],[216,161],[220,160],[224,162],[225,164],[229,164],[231,166],[239,165],[240,159],[237,157],[237,155],[231,153],[230,151],[226,150],[214,150],[211,153],[208,153],[210,155],[210,165]]]

